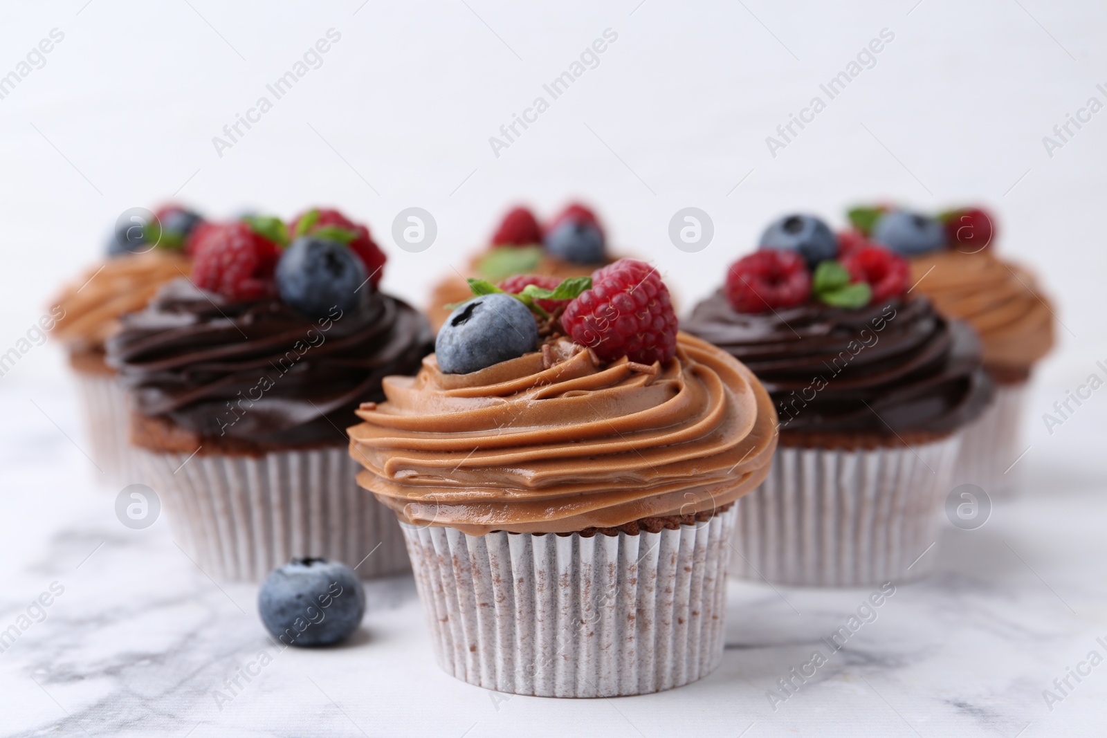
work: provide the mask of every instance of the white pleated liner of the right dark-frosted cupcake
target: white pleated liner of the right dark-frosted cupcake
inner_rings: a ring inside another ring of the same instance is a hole
[[[862,586],[930,571],[960,436],[913,448],[779,447],[737,502],[731,573],[800,586]],[[920,558],[921,557],[921,558]]]

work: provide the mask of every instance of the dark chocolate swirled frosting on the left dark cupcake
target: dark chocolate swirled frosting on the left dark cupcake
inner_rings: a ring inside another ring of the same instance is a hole
[[[231,302],[178,279],[123,318],[107,358],[139,416],[211,450],[263,451],[341,445],[358,403],[383,399],[381,380],[414,374],[432,349],[426,320],[375,291],[310,320],[276,299]]]

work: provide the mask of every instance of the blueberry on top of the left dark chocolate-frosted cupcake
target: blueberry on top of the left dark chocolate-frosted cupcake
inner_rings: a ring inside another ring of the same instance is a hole
[[[280,299],[308,318],[323,318],[338,306],[358,305],[356,290],[371,290],[361,259],[340,241],[301,236],[277,262]]]

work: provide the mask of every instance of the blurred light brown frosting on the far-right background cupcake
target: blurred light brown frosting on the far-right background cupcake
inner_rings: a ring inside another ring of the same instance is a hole
[[[939,251],[911,261],[912,282],[939,312],[969,321],[989,367],[1028,372],[1053,346],[1053,314],[1034,276],[991,251]]]

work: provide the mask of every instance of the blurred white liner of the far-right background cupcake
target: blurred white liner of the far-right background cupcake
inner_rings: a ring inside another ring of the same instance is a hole
[[[980,486],[989,495],[1003,495],[1017,485],[1026,382],[997,384],[995,401],[965,428],[961,453],[953,466],[953,484]]]

